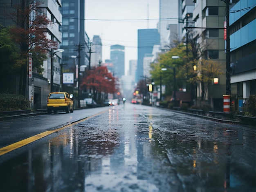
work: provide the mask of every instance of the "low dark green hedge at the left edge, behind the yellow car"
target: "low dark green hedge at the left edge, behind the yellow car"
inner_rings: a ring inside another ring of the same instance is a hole
[[[3,93],[0,98],[0,111],[28,109],[28,100],[23,95]]]

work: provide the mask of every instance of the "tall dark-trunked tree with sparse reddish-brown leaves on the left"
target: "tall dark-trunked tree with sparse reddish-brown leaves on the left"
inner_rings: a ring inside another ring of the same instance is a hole
[[[42,71],[45,54],[50,49],[57,49],[58,43],[47,38],[45,32],[52,21],[40,11],[39,3],[34,0],[21,0],[9,15],[15,26],[11,28],[13,41],[18,45],[20,55],[13,68],[19,71],[19,93],[25,95],[27,80],[28,53],[33,51],[33,68]]]

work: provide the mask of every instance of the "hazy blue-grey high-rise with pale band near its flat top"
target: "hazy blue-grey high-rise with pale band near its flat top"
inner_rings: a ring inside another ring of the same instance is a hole
[[[114,64],[114,73],[115,76],[121,79],[124,75],[124,46],[123,45],[112,45],[110,46],[110,59]]]

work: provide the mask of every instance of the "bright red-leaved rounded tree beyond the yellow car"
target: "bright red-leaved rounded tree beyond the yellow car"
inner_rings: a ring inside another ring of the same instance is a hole
[[[108,72],[106,66],[99,66],[87,71],[87,75],[81,80],[81,87],[93,90],[94,100],[100,100],[101,93],[114,94],[117,91],[116,79]],[[98,95],[98,99],[97,98]]]

